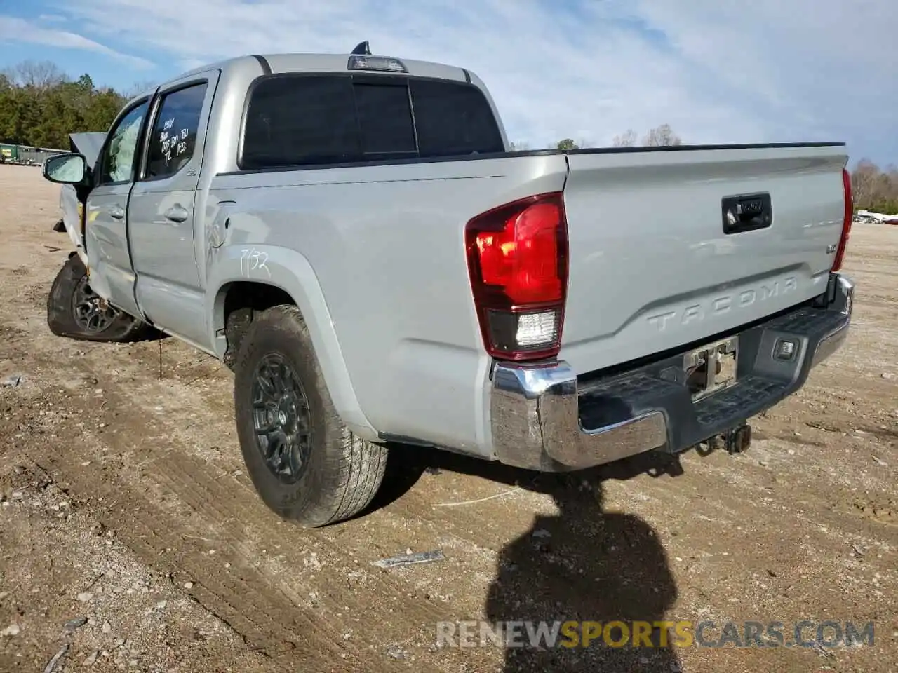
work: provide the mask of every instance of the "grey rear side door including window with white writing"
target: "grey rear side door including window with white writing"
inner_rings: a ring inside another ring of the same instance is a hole
[[[212,70],[159,90],[128,211],[140,308],[159,328],[200,347],[208,346],[208,333],[194,205],[217,78]]]

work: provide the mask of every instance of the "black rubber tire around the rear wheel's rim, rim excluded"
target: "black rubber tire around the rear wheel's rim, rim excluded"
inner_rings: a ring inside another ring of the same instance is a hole
[[[292,370],[308,410],[307,453],[292,477],[295,483],[284,483],[260,450],[252,391],[260,365],[269,356],[280,358]],[[247,328],[234,363],[234,408],[252,484],[282,518],[317,528],[349,519],[371,503],[383,481],[387,449],[357,437],[340,420],[309,329],[295,306],[260,311]]]

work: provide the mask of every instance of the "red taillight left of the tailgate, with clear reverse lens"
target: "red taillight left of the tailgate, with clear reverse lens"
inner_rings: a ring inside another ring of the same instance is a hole
[[[487,352],[503,360],[558,354],[568,292],[560,192],[480,214],[465,227],[468,271]]]

